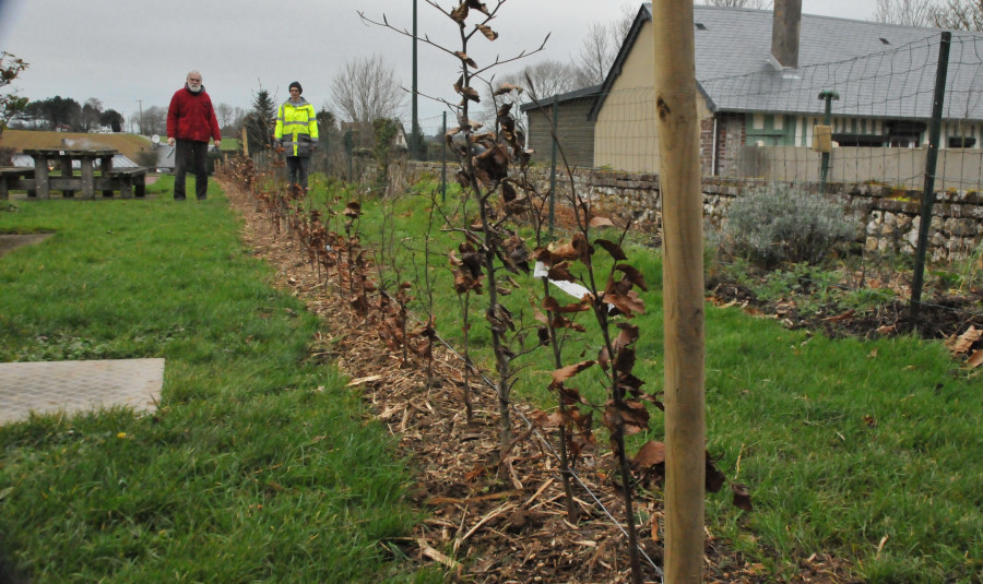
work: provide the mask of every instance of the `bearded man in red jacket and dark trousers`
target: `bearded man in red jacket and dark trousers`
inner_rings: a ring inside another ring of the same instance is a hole
[[[215,147],[222,143],[218,120],[212,98],[201,84],[201,73],[188,73],[185,86],[175,92],[167,108],[167,145],[175,147],[174,200],[185,200],[185,175],[188,167],[194,175],[194,194],[199,201],[208,196],[209,172],[205,159],[209,154],[209,139],[215,139]]]

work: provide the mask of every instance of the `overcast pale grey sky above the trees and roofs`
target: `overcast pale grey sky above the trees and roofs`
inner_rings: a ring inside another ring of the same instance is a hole
[[[486,0],[488,1],[488,0]],[[437,0],[450,8],[457,0]],[[803,0],[803,12],[868,20],[876,0]],[[571,60],[592,23],[616,20],[625,0],[510,0],[493,27],[495,43],[473,43],[479,64],[538,47],[535,59]],[[633,3],[630,3],[635,5]],[[641,5],[639,2],[637,5]],[[374,52],[411,84],[407,37],[366,26],[366,16],[412,27],[412,0],[0,0],[0,49],[29,63],[14,87],[22,96],[95,97],[127,118],[140,108],[166,107],[190,69],[198,69],[212,100],[248,108],[262,86],[277,102],[299,81],[316,107],[327,105],[345,61]],[[457,28],[418,0],[418,31],[454,46]],[[419,45],[419,91],[453,97],[454,59]],[[525,61],[525,64],[534,61]],[[521,65],[513,68],[518,69]],[[499,74],[509,70],[502,69]],[[408,100],[407,100],[408,104]],[[421,124],[442,111],[421,98]],[[406,116],[408,118],[408,115]]]

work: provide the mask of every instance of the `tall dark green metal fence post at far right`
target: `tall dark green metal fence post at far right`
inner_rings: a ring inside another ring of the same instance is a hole
[[[911,306],[909,321],[911,330],[917,329],[919,311],[922,303],[922,287],[925,284],[925,255],[928,250],[928,228],[932,226],[932,205],[935,204],[935,169],[938,164],[938,142],[941,134],[943,103],[946,98],[946,76],[949,72],[949,45],[952,33],[941,34],[938,46],[938,69],[935,72],[935,97],[932,102],[932,120],[928,123],[928,152],[925,156],[925,188],[922,190],[921,223],[919,245],[915,248],[914,277],[911,283]]]

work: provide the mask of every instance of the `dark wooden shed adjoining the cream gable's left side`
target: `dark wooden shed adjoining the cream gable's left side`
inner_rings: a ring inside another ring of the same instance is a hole
[[[594,166],[594,122],[588,118],[597,99],[601,85],[549,97],[541,103],[530,102],[520,106],[526,116],[526,146],[533,151],[533,160],[548,163],[553,156],[554,104],[556,107],[556,135],[564,148],[567,164],[573,168]],[[557,157],[562,164],[562,158]]]

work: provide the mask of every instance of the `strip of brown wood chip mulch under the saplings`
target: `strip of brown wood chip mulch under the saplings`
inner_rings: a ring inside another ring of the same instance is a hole
[[[399,546],[419,563],[439,562],[451,582],[476,583],[621,583],[628,575],[627,538],[575,482],[577,522],[567,521],[564,489],[550,443],[516,420],[514,436],[528,436],[512,450],[510,464],[496,468],[498,452],[497,397],[485,385],[472,383],[474,416],[464,414],[464,377],[460,359],[443,347],[435,349],[433,383],[425,365],[404,363],[378,335],[378,323],[356,315],[335,290],[325,288],[316,269],[301,259],[299,246],[277,234],[270,219],[257,212],[248,193],[223,181],[230,205],[245,222],[242,237],[276,269],[275,285],[303,299],[323,326],[313,343],[312,358],[335,362],[351,376],[376,418],[399,439],[408,457],[416,486],[413,504],[429,517],[412,537],[387,544]],[[532,408],[516,404],[529,414]],[[613,469],[606,455],[577,468],[579,477],[609,510],[623,515],[623,505],[606,479]],[[661,568],[662,509],[658,493],[638,502],[642,549]],[[704,581],[710,583],[854,583],[849,562],[826,555],[800,561],[784,574],[734,551],[707,532]],[[661,582],[660,571],[642,559],[646,581]]]

